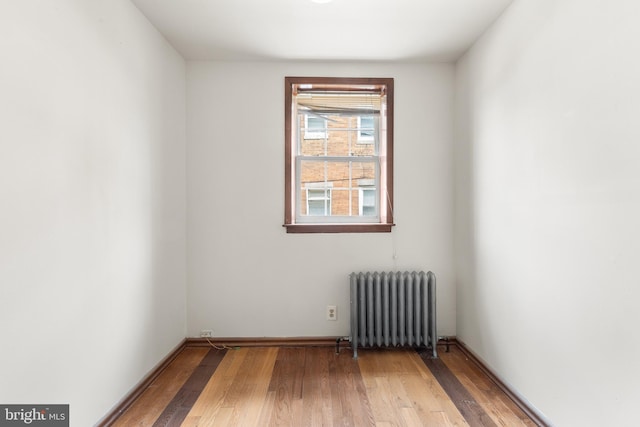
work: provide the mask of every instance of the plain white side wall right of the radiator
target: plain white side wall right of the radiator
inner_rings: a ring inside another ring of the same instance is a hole
[[[637,425],[640,3],[516,0],[457,64],[457,335],[558,426]]]

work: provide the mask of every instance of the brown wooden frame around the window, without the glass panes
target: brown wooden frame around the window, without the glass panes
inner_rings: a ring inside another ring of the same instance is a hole
[[[353,78],[353,77],[285,77],[285,214],[284,227],[287,233],[388,233],[393,226],[393,78]],[[293,132],[294,87],[298,85],[326,86],[382,86],[386,94],[386,141],[380,158],[380,189],[378,191],[380,207],[384,206],[384,215],[374,223],[296,223],[295,221],[295,138]]]

